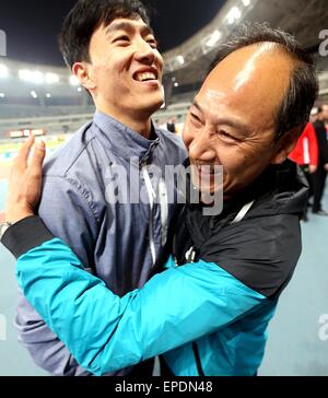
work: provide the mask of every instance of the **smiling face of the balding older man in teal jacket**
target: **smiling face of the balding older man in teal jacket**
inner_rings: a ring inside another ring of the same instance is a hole
[[[198,171],[223,166],[223,191],[234,195],[271,163],[282,163],[297,140],[295,131],[274,141],[276,115],[288,90],[293,61],[271,44],[232,52],[206,79],[187,117],[184,141]]]

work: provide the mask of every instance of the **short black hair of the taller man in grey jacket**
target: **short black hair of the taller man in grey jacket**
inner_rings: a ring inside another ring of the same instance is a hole
[[[117,17],[141,17],[150,24],[148,10],[139,0],[79,0],[65,19],[59,35],[66,63],[71,68],[75,62],[90,61],[89,45],[93,33]]]

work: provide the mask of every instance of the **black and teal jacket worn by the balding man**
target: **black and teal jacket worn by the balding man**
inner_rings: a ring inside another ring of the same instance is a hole
[[[175,375],[254,375],[301,254],[306,202],[306,183],[288,161],[225,202],[221,215],[187,206],[167,269],[121,297],[37,216],[13,225],[2,243],[17,257],[28,302],[93,374],[164,353]]]

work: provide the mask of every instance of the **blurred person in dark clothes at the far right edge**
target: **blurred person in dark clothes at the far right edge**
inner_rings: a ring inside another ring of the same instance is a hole
[[[313,174],[313,213],[318,215],[328,215],[328,212],[323,209],[323,196],[326,187],[326,178],[328,172],[328,136],[325,122],[328,121],[328,105],[319,106],[314,129],[317,136],[319,159],[317,171]]]

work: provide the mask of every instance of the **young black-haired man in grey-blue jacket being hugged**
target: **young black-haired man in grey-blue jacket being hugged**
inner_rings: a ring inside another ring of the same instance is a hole
[[[60,47],[96,113],[46,164],[38,213],[121,296],[141,288],[163,262],[175,206],[109,203],[108,187],[130,189],[128,197],[157,195],[154,182],[145,184],[149,167],[180,164],[186,152],[178,138],[152,126],[164,101],[163,59],[140,1],[79,0],[63,22]],[[116,178],[121,169],[127,187]],[[167,182],[167,190],[172,185]],[[16,326],[40,367],[52,375],[86,374],[23,296]],[[151,374],[151,367],[136,372]]]

